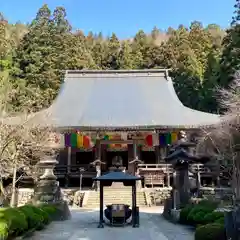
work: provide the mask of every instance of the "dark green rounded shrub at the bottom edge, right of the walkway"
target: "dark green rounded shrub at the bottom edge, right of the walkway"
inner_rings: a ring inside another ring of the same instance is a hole
[[[226,240],[224,225],[209,223],[196,229],[195,240]]]

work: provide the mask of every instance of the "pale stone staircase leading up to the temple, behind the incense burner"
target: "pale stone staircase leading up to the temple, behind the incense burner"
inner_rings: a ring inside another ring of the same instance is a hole
[[[132,187],[104,187],[103,191],[103,204],[104,206],[110,204],[128,204],[132,205]],[[98,208],[99,207],[99,191],[90,191],[88,193],[86,204],[84,207],[87,208]],[[146,206],[145,192],[141,189],[137,190],[137,206]],[[104,207],[105,208],[105,207]]]

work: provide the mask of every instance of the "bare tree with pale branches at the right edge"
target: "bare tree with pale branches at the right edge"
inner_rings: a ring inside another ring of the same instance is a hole
[[[240,78],[228,89],[219,89],[220,103],[226,109],[221,123],[209,131],[202,129],[197,152],[214,156],[216,160],[230,163],[228,175],[232,182],[234,197],[240,200]],[[224,165],[222,165],[222,169]]]

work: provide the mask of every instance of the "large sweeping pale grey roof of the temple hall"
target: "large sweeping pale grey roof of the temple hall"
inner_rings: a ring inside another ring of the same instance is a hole
[[[123,130],[198,128],[220,116],[185,107],[168,71],[67,71],[52,105],[36,114],[58,128]],[[45,121],[44,121],[45,122]]]

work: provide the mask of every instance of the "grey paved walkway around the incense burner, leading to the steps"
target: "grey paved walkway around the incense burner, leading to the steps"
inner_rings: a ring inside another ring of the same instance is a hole
[[[183,226],[167,222],[159,207],[143,208],[140,227],[110,227],[98,229],[97,210],[72,210],[72,219],[54,222],[46,230],[36,232],[32,240],[193,240],[193,232]]]

